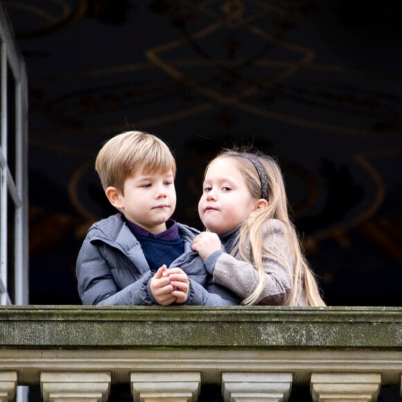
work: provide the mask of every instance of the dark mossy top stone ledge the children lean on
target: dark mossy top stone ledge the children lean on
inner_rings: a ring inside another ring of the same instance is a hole
[[[402,350],[400,307],[1,306],[0,349]]]

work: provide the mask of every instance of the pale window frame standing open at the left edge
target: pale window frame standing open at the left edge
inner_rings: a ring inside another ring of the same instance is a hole
[[[28,85],[24,59],[0,1],[1,139],[0,139],[0,304],[28,304]],[[11,75],[8,76],[8,74]],[[15,132],[8,132],[8,82],[15,86]],[[15,177],[8,165],[8,145],[15,141]],[[11,204],[11,205],[10,205]],[[8,227],[8,213],[15,222]],[[13,255],[8,239],[14,238]],[[8,261],[14,261],[13,289],[8,288]],[[10,294],[14,297],[10,297]]]

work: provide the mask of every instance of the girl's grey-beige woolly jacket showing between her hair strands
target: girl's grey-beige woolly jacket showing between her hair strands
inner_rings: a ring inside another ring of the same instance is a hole
[[[286,262],[292,268],[292,257],[286,244],[285,227],[279,220],[270,220],[263,231],[264,242],[270,250],[286,256]],[[250,245],[246,251],[251,254]],[[265,271],[265,287],[255,304],[284,305],[291,288],[291,278],[286,263],[277,256],[263,254]],[[213,270],[213,281],[235,292],[241,299],[250,296],[256,288],[258,273],[254,265],[241,259],[237,251],[235,256],[223,252],[216,260]]]

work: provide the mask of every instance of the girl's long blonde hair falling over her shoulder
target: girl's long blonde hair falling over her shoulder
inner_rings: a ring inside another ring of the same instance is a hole
[[[225,149],[220,152],[217,158],[234,159],[248,188],[250,189],[252,198],[259,200],[261,198],[261,180],[256,171],[256,167],[250,159],[244,156],[244,153],[245,152],[241,152],[240,150]],[[308,306],[325,306],[325,303],[320,296],[315,275],[306,261],[295,226],[290,221],[288,215],[288,199],[286,197],[285,184],[283,182],[281,169],[279,168],[277,161],[268,155],[263,155],[259,152],[253,152],[252,155],[261,162],[267,175],[268,207],[257,209],[249,218],[247,218],[247,220],[245,220],[245,222],[243,222],[236,241],[239,245],[243,259],[248,263],[252,263],[259,274],[259,281],[256,288],[252,294],[243,301],[243,304],[255,304],[258,300],[259,295],[265,286],[263,254],[270,254],[275,258],[280,259],[288,267],[290,277],[292,278],[292,288],[288,300],[289,306],[295,306],[297,304],[297,299],[302,290],[305,292],[306,304]],[[263,243],[263,225],[268,219],[280,220],[286,227],[285,234],[294,262],[293,267],[289,265],[284,254],[279,255],[274,253],[270,250],[269,245]],[[247,244],[247,238],[249,237],[252,247],[253,261],[248,261],[249,258],[244,250],[244,245]]]

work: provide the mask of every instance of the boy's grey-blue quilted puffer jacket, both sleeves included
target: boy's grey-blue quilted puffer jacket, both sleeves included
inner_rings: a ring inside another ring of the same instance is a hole
[[[185,305],[233,306],[239,299],[230,290],[212,283],[202,259],[191,250],[196,229],[177,223],[184,238],[184,254],[169,268],[179,267],[189,277]],[[76,274],[82,304],[103,306],[149,306],[157,304],[150,292],[151,272],[137,238],[121,213],[92,225],[78,254]]]

